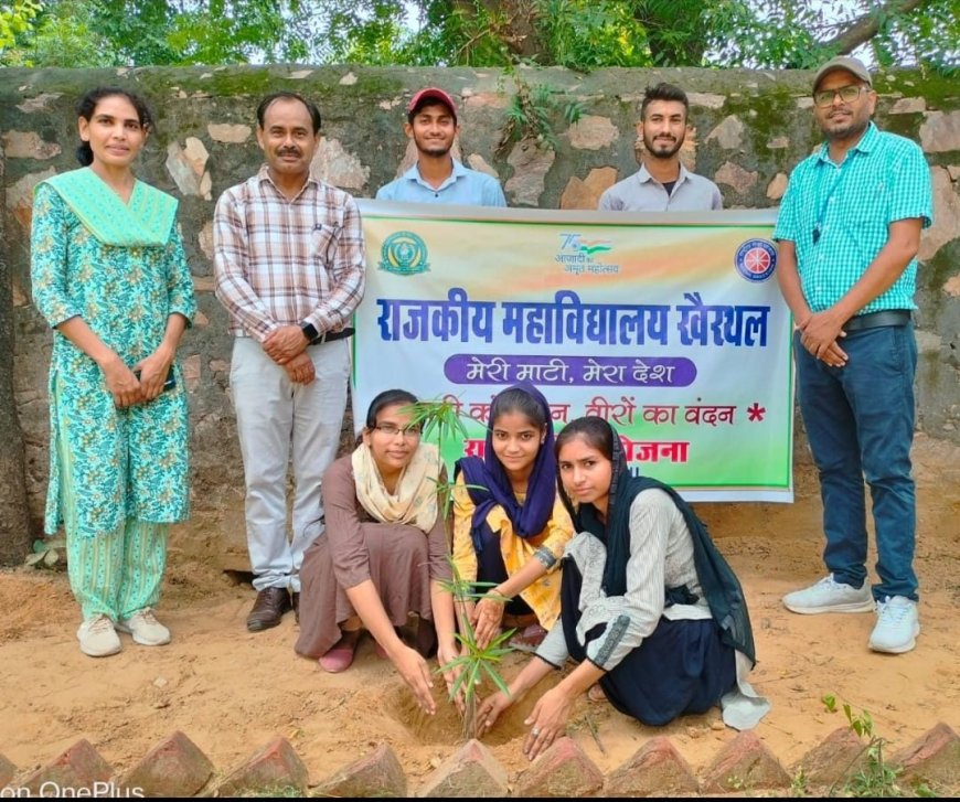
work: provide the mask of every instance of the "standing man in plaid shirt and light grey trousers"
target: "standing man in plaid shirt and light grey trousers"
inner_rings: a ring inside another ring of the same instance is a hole
[[[323,533],[320,480],[346,406],[349,327],[365,260],[353,197],[310,173],[320,111],[291,92],[264,98],[266,164],[224,192],[214,213],[216,297],[235,336],[231,389],[246,482],[252,632],[299,612],[299,569]],[[287,537],[287,466],[296,490]]]

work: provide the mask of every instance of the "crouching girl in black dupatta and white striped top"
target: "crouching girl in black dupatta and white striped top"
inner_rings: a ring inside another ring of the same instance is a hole
[[[579,665],[524,721],[531,760],[563,735],[575,699],[594,683],[647,725],[719,704],[727,725],[756,726],[769,704],[745,681],[755,662],[746,601],[704,525],[671,488],[630,474],[606,420],[572,421],[556,451],[578,533],[564,559],[561,621],[510,695],[483,702],[481,734],[567,657]]]

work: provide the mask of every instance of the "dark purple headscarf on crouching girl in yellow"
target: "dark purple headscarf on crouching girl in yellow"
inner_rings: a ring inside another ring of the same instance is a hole
[[[530,474],[530,482],[526,486],[526,499],[523,504],[516,501],[506,471],[493,451],[492,410],[490,419],[487,421],[487,442],[483,449],[483,459],[481,460],[479,457],[463,457],[457,460],[455,475],[458,475],[462,471],[463,480],[468,485],[479,485],[479,488],[467,488],[470,500],[476,507],[471,534],[473,537],[473,548],[478,554],[483,550],[481,532],[484,527],[489,530],[487,515],[494,506],[502,506],[506,517],[510,518],[510,523],[513,524],[514,533],[519,537],[527,538],[543,532],[553,513],[553,505],[556,500],[556,457],[554,456],[553,448],[553,419],[551,417],[550,405],[546,403],[543,394],[527,382],[515,384],[501,393],[510,389],[523,391],[536,400],[543,409],[543,416],[546,420],[546,437],[536,452],[533,471]],[[493,403],[497,403],[497,398],[493,399]]]

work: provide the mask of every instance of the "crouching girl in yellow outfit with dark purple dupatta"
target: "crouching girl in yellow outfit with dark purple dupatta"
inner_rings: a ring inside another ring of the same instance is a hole
[[[465,610],[481,646],[505,625],[519,630],[511,645],[532,651],[559,616],[556,569],[573,523],[553,443],[546,398],[522,383],[493,398],[482,459],[457,462],[454,564],[462,579],[495,584]]]

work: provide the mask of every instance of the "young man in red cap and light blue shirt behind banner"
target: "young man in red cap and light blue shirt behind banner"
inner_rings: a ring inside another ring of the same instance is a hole
[[[395,181],[381,186],[377,201],[456,203],[505,206],[500,182],[463,167],[450,149],[460,130],[457,105],[442,89],[420,89],[407,104],[404,131],[417,149],[417,162]]]

